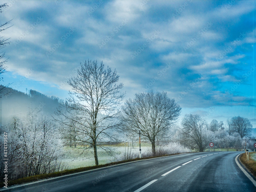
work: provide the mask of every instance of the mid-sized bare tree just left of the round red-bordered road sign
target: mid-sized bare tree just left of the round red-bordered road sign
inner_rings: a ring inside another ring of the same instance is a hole
[[[211,136],[206,130],[206,121],[198,114],[186,114],[181,124],[183,138],[194,144],[199,152],[203,152],[209,145]]]

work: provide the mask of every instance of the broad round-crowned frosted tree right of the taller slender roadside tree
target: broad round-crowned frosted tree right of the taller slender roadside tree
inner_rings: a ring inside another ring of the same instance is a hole
[[[128,99],[122,106],[121,130],[139,134],[152,144],[153,155],[156,154],[156,138],[166,137],[170,127],[180,115],[181,107],[167,96],[166,92],[136,93],[135,98]]]

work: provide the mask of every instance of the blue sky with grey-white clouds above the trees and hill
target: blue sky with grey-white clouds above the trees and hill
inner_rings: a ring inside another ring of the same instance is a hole
[[[3,83],[14,89],[65,99],[80,62],[98,60],[118,71],[125,99],[165,91],[182,116],[256,123],[256,1],[2,2],[0,23],[13,19],[0,34],[11,41]]]

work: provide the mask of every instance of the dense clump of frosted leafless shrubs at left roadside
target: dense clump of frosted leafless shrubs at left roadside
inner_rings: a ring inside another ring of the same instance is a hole
[[[10,179],[66,169],[60,160],[62,146],[57,127],[51,121],[35,115],[31,119],[14,117],[4,127],[4,131],[8,132]]]

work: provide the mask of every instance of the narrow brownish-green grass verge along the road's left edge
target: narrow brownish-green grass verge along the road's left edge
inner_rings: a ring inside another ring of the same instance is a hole
[[[79,172],[92,170],[92,169],[97,169],[97,168],[101,168],[101,167],[107,167],[107,166],[111,166],[111,165],[118,165],[118,164],[121,164],[121,163],[133,162],[133,161],[138,161],[138,160],[143,160],[143,159],[151,159],[151,158],[156,158],[156,157],[172,156],[172,155],[178,155],[178,154],[181,154],[181,153],[176,153],[176,154],[171,154],[171,155],[154,156],[154,157],[136,158],[136,159],[130,159],[130,160],[126,160],[126,161],[118,161],[118,162],[107,163],[107,164],[103,164],[103,165],[80,167],[80,168],[76,168],[76,169],[64,170],[64,171],[61,171],[61,172],[24,177],[24,178],[8,181],[8,187],[11,186],[11,185],[25,184],[25,183],[29,183],[29,182],[33,182],[33,181],[48,179],[48,178],[52,178],[52,177],[58,177],[58,176],[62,176],[62,175],[68,175],[68,174],[72,174],[72,173],[79,173]],[[0,187],[4,187],[4,186],[5,186],[4,183],[0,183]]]

